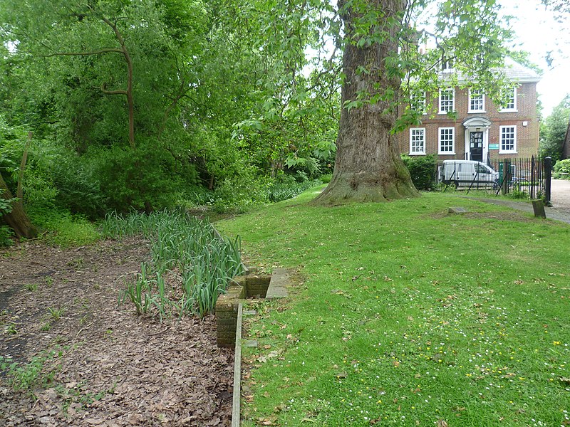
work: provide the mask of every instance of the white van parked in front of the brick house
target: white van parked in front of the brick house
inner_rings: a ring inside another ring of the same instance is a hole
[[[475,160],[444,160],[440,167],[440,181],[456,186],[492,185],[499,179],[499,172]]]

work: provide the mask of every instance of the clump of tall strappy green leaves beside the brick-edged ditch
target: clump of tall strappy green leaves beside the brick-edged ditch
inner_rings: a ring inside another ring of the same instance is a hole
[[[120,303],[133,302],[138,314],[155,307],[161,320],[172,314],[204,317],[214,311],[229,280],[243,272],[239,238],[222,238],[212,224],[182,211],[108,215],[101,230],[106,237],[140,234],[151,241],[152,264],[142,263],[119,298]],[[167,270],[180,272],[182,289],[165,283]]]

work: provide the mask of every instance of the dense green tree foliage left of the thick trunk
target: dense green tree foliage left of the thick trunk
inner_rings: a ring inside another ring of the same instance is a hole
[[[232,195],[287,167],[318,174],[338,97],[334,78],[303,72],[309,13],[302,1],[6,0],[0,116],[34,131],[33,159],[65,157],[56,198],[79,173],[111,209],[202,186]]]

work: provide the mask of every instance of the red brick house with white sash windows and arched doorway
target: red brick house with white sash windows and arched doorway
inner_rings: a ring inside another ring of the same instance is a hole
[[[488,159],[521,158],[537,155],[539,118],[537,83],[540,76],[507,59],[504,74],[515,83],[512,95],[505,95],[499,107],[484,92],[470,88],[442,88],[439,93],[423,94],[414,104],[425,110],[421,125],[398,134],[400,152],[410,156],[437,154],[437,158]],[[452,73],[446,70],[444,73]],[[448,111],[455,111],[456,118]]]

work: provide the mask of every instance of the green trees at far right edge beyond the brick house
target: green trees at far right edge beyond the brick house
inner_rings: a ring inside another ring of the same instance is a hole
[[[561,159],[564,137],[568,130],[570,119],[570,95],[566,95],[564,100],[556,105],[549,117],[546,117],[544,125],[541,126],[540,154],[549,156],[553,162]]]

